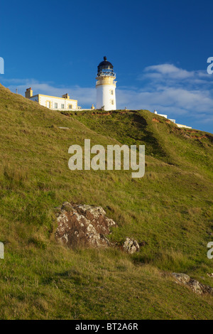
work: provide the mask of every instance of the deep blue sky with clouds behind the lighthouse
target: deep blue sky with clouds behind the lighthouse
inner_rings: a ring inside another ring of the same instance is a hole
[[[117,107],[157,109],[213,132],[212,0],[1,0],[0,82],[24,94],[96,102],[104,55],[117,75]]]

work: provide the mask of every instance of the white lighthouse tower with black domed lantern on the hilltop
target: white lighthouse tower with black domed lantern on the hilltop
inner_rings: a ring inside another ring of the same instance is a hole
[[[116,75],[113,65],[104,57],[104,61],[99,63],[97,72],[97,109],[116,110]]]

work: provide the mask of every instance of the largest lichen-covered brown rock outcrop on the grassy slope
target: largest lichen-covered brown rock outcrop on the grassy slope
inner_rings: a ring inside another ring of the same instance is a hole
[[[55,239],[68,247],[109,247],[107,239],[114,220],[101,207],[63,203],[58,210]]]

